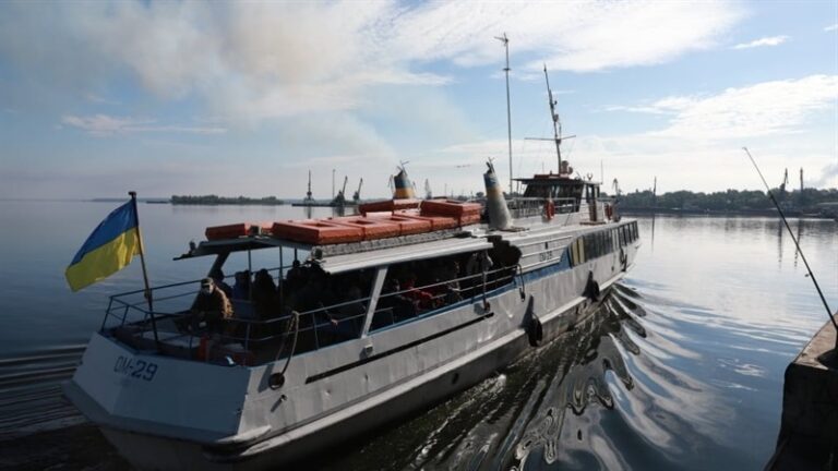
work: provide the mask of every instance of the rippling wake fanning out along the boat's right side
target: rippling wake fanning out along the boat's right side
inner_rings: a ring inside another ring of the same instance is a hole
[[[713,403],[714,386],[685,373],[703,360],[681,345],[677,322],[670,302],[616,285],[575,329],[324,464],[706,469],[714,454],[697,457],[723,447],[719,416],[733,411]]]

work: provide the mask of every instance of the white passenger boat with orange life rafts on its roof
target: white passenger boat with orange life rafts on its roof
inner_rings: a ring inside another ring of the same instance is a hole
[[[215,334],[183,322],[197,281],[153,289],[155,312],[143,290],[113,295],[65,396],[137,469],[250,470],[475,385],[592,312],[639,247],[636,221],[561,154],[556,173],[518,179],[523,197],[504,198],[491,162],[483,177],[482,204],[408,193],[207,229],[180,258],[215,257],[217,274],[277,252],[276,295],[234,299]]]

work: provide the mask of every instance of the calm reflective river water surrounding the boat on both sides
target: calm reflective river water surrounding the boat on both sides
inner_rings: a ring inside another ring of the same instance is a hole
[[[127,468],[60,395],[107,297],[142,283],[139,262],[79,293],[63,279],[117,206],[0,201],[0,468]],[[208,258],[171,259],[206,226],[303,216],[141,204],[152,282],[206,273]],[[639,221],[636,266],[582,328],[308,467],[762,469],[779,431],[783,370],[826,322],[802,259],[770,218]],[[790,222],[835,310],[838,224]],[[271,257],[253,266],[278,265]]]

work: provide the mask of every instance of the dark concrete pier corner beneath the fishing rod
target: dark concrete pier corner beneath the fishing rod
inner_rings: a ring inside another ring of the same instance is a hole
[[[786,369],[777,450],[766,470],[838,471],[838,352],[827,322]]]

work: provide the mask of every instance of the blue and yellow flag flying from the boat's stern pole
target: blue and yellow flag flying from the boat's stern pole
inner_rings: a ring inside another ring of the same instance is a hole
[[[73,291],[119,271],[140,253],[136,206],[128,202],[99,224],[75,254],[64,276]]]

